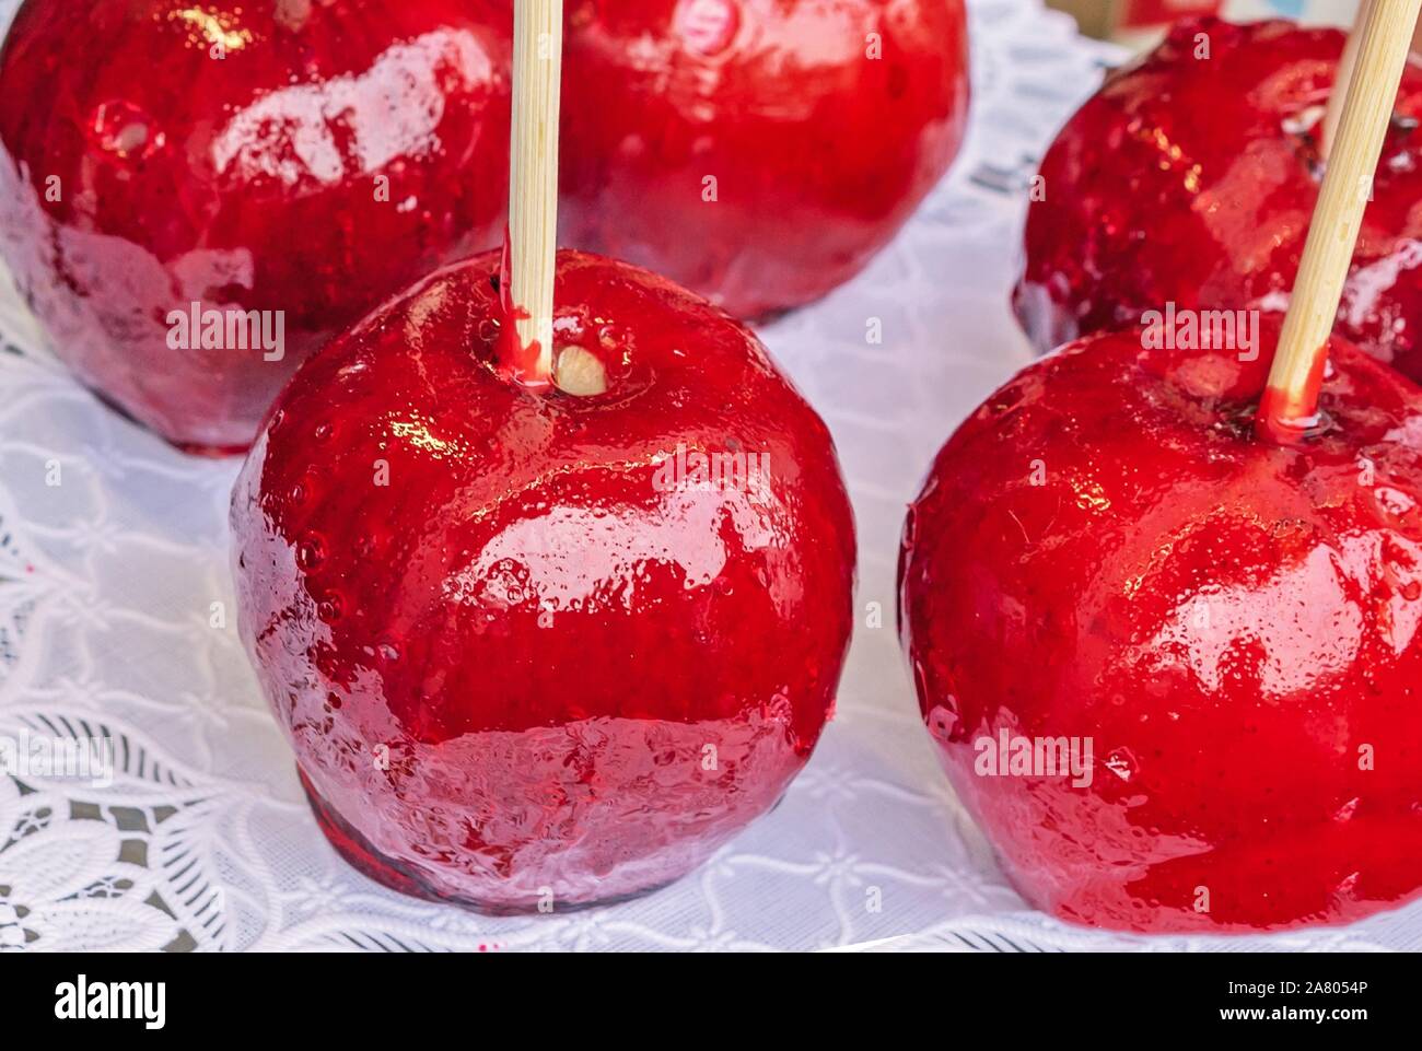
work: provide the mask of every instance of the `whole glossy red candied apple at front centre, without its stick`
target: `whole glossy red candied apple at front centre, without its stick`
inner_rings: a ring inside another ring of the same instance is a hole
[[[495,363],[498,265],[297,373],[233,494],[240,630],[348,859],[562,909],[681,876],[779,798],[833,704],[855,535],[747,329],[565,252],[557,348],[609,390],[533,393]]]

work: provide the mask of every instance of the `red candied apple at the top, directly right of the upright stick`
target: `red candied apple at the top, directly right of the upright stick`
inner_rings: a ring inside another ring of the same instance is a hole
[[[562,243],[738,317],[859,273],[963,138],[961,0],[569,0],[566,17]]]

